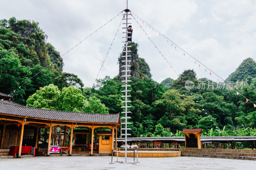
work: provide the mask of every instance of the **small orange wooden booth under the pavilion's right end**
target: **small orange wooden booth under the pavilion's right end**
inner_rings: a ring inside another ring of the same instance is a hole
[[[114,144],[114,131],[98,131],[99,135],[99,154],[102,153],[112,153],[113,144]]]

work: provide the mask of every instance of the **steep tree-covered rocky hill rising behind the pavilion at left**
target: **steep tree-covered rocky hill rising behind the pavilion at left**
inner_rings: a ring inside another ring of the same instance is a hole
[[[76,75],[62,74],[64,63],[60,53],[46,41],[47,35],[35,21],[16,20],[14,17],[0,21],[0,92],[11,93],[15,102],[26,105],[28,97],[39,87],[53,82],[68,87],[66,79],[76,78],[77,81],[73,83],[77,82],[79,87],[84,86]],[[36,75],[46,66],[45,70]],[[34,75],[34,78],[20,87]]]

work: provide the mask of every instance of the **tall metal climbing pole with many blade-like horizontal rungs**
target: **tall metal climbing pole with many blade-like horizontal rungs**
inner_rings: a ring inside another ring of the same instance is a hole
[[[123,41],[123,42],[125,42],[125,46],[123,48],[125,48],[125,51],[123,51],[122,63],[125,63],[125,65],[122,65],[122,68],[125,68],[125,69],[122,70],[122,72],[124,74],[122,74],[121,78],[122,78],[122,82],[124,82],[124,84],[125,84],[125,85],[122,85],[122,87],[125,87],[125,90],[122,91],[122,92],[125,92],[125,95],[122,96],[125,98],[125,100],[122,101],[122,103],[125,103],[125,106],[122,106],[121,108],[125,108],[125,111],[122,112],[122,113],[125,113],[125,117],[122,117],[121,119],[125,119],[125,122],[121,123],[121,129],[125,130],[125,133],[121,134],[121,135],[125,135],[125,163],[127,163],[127,135],[131,135],[131,134],[127,134],[127,130],[131,130],[130,128],[127,128],[127,124],[132,124],[130,122],[127,122],[127,119],[131,118],[131,117],[127,117],[127,114],[132,113],[132,112],[127,111],[127,108],[131,107],[131,106],[127,106],[127,103],[131,102],[130,100],[127,100],[128,97],[131,97],[130,95],[127,94],[127,92],[131,92],[131,90],[127,90],[127,87],[131,87],[131,85],[128,85],[128,82],[131,81],[131,80],[128,80],[128,78],[131,77],[131,75],[130,75],[131,65],[128,64],[131,62],[131,60],[128,60],[128,57],[131,57],[131,55],[128,55],[128,52],[131,52],[128,50],[128,48],[131,47],[131,46],[128,46],[128,43],[130,43],[130,42],[128,42],[128,38],[130,38],[130,37],[128,37],[128,33],[130,33],[130,32],[128,32],[128,24],[131,24],[131,23],[128,23],[128,19],[131,19],[131,18],[128,18],[128,15],[131,15],[131,14],[128,14],[128,12],[130,11],[129,9],[125,9],[124,11],[125,11],[125,14],[124,14],[123,20],[125,20],[125,23],[123,23],[123,24],[125,24],[125,27],[123,27],[123,29],[125,29],[125,32],[123,32],[123,33],[125,33],[125,37],[123,37],[123,38],[125,38],[125,41]],[[124,55],[124,53],[125,53],[125,55]],[[123,58],[125,58],[125,60],[123,60]],[[128,72],[129,72],[129,74],[128,74]],[[125,128],[122,128],[122,124],[125,125]]]

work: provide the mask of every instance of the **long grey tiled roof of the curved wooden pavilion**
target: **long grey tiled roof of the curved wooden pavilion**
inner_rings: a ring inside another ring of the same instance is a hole
[[[47,110],[9,104],[0,100],[0,114],[1,113],[7,115],[27,116],[29,118],[73,122],[118,123],[119,120],[119,114],[79,113]]]

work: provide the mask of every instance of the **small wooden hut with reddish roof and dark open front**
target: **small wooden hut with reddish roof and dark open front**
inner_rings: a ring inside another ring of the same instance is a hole
[[[183,129],[181,133],[185,133],[185,148],[201,149],[200,133],[202,129]]]

